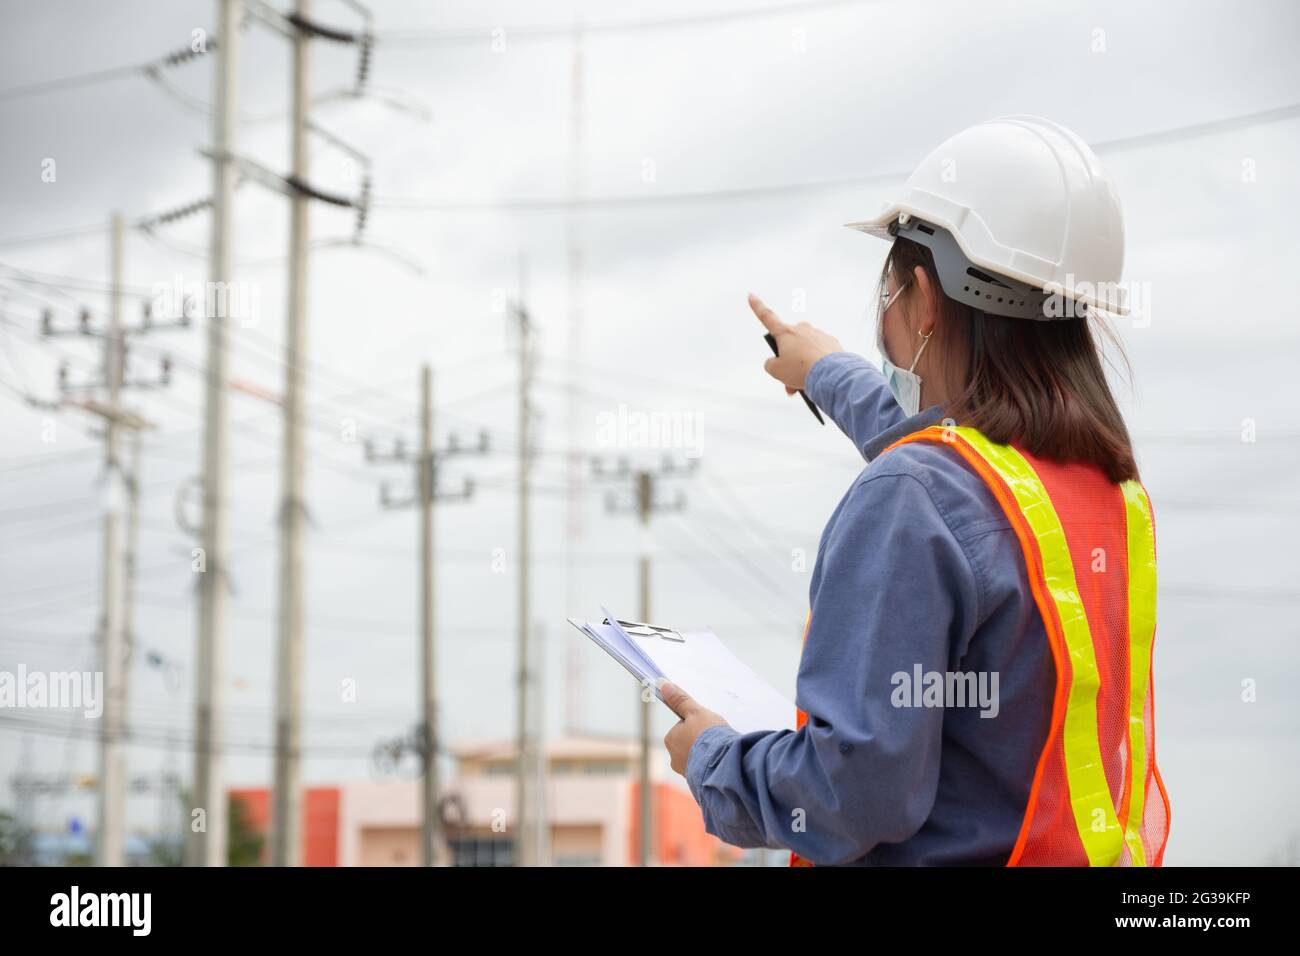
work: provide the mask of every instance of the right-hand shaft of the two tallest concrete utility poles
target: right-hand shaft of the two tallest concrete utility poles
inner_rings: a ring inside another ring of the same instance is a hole
[[[299,21],[311,18],[311,0],[298,0]],[[308,178],[311,35],[296,27],[294,43],[292,178]],[[285,458],[280,505],[280,641],[276,659],[276,774],[270,860],[274,866],[302,862],[302,674],[303,674],[303,498],[306,457],[303,371],[307,362],[307,212],[309,196],[290,196],[289,330],[285,337]]]

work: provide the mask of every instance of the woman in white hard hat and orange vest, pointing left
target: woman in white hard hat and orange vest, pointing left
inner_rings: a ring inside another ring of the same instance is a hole
[[[1115,189],[1010,116],[853,228],[892,242],[883,369],[750,297],[767,372],[867,460],[822,533],[798,730],[666,685],[672,766],[710,832],[797,864],[1158,866],[1154,528],[1092,319],[1126,313]]]

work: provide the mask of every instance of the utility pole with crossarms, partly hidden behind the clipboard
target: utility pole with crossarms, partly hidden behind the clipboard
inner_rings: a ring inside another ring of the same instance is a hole
[[[682,511],[686,507],[685,496],[679,492],[672,502],[660,501],[656,496],[656,483],[663,477],[684,477],[693,475],[698,467],[698,459],[690,459],[685,470],[673,466],[671,459],[664,459],[658,470],[641,468],[630,471],[627,460],[620,460],[618,470],[606,472],[599,460],[592,462],[592,475],[597,480],[632,481],[633,511],[641,523],[641,554],[637,559],[637,589],[641,594],[641,623],[650,623],[650,518],[663,511]],[[606,507],[610,511],[625,510],[619,506],[618,497],[612,493],[606,498]],[[653,741],[650,739],[651,722],[654,717],[654,696],[646,689],[640,691],[640,731],[641,731],[641,757],[640,757],[640,786],[638,786],[638,840],[637,865],[650,866],[654,862],[654,786],[650,780],[650,754]]]

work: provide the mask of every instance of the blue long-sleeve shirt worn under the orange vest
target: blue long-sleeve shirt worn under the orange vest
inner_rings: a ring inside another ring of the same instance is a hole
[[[819,865],[1005,864],[1056,687],[1015,533],[950,450],[875,458],[939,410],[905,419],[864,359],[827,355],[805,390],[868,459],[818,548],[796,691],[809,719],[703,731],[690,792],[708,832],[737,847]],[[915,706],[911,684],[931,672],[982,674],[996,702]]]

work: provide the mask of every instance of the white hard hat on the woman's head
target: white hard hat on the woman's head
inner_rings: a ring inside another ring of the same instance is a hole
[[[946,139],[879,216],[849,228],[930,247],[944,293],[991,315],[1057,317],[1045,304],[1054,295],[1128,312],[1115,186],[1087,143],[1037,116]]]

